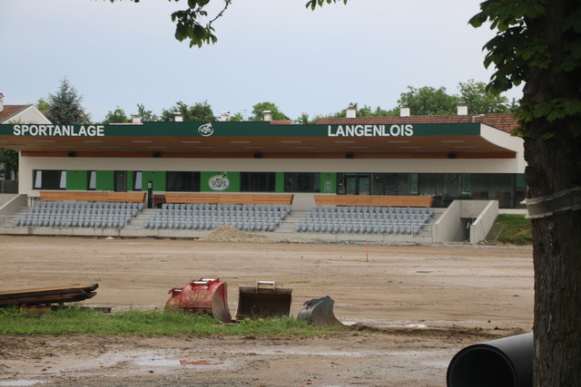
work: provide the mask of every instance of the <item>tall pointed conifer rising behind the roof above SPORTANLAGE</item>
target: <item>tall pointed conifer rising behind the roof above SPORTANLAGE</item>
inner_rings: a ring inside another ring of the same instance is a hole
[[[83,98],[66,79],[55,94],[48,96],[46,118],[57,125],[89,123],[89,117],[81,105]]]

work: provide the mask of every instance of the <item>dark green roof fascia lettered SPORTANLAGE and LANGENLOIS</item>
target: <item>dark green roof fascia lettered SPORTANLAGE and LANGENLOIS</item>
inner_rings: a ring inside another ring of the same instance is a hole
[[[480,135],[475,123],[400,123],[271,125],[266,121],[242,122],[144,122],[136,125],[0,125],[0,135],[19,136],[130,136],[130,137],[360,137],[360,136],[467,136]],[[355,128],[357,127],[357,128]],[[405,133],[404,129],[406,128]],[[42,131],[39,128],[44,128]],[[346,132],[355,128],[355,136]],[[368,134],[366,134],[366,131]],[[369,134],[373,133],[375,134]],[[341,134],[338,134],[341,133]],[[378,134],[383,133],[383,134]],[[395,134],[394,134],[395,133]]]

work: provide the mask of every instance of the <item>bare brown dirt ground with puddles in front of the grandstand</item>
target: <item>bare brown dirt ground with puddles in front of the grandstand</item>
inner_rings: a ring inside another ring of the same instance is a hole
[[[198,277],[330,295],[345,332],[291,336],[0,335],[0,386],[445,386],[472,343],[532,330],[532,250],[0,237],[0,291],[98,283],[83,305],[162,308]],[[356,324],[359,323],[359,324]],[[368,326],[374,332],[362,331]]]

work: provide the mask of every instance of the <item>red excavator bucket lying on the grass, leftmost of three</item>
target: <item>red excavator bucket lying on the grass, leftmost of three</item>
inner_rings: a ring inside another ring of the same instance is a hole
[[[226,283],[220,278],[200,278],[180,288],[170,290],[165,310],[212,314],[223,323],[231,322],[226,297]]]

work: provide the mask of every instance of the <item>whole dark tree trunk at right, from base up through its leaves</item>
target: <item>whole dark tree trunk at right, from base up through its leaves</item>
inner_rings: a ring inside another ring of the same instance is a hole
[[[548,44],[548,68],[529,67],[523,102],[537,105],[555,99],[579,100],[581,65],[560,69],[566,41],[579,34],[563,33],[567,15],[579,5],[573,0],[547,3],[547,13],[526,20],[531,41]],[[530,198],[581,186],[581,117],[557,121],[537,118],[525,129],[525,178]],[[537,387],[578,386],[581,383],[581,210],[565,210],[533,219],[535,265],[535,362]]]

